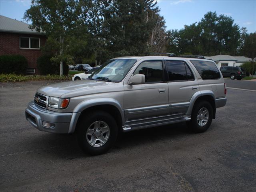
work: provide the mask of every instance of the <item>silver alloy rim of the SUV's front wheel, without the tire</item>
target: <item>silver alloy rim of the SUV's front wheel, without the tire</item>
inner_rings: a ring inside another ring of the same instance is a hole
[[[110,128],[104,121],[93,122],[86,131],[86,140],[93,147],[104,145],[109,138]]]

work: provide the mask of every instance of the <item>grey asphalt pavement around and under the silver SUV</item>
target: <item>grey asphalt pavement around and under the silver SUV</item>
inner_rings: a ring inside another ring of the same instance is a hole
[[[49,83],[1,83],[1,191],[256,191],[256,92],[228,89],[205,133],[183,123],[138,130],[88,156],[75,135],[40,132],[25,120],[26,104]]]

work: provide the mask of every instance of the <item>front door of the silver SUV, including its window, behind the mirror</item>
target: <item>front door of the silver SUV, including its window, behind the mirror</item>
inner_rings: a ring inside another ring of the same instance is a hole
[[[164,81],[164,62],[141,62],[135,74],[144,74],[146,83],[124,84],[124,112],[126,121],[168,115],[168,84]]]

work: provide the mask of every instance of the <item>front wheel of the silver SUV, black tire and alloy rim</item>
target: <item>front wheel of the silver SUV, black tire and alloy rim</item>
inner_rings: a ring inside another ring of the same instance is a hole
[[[78,144],[85,153],[99,155],[107,152],[116,142],[118,126],[107,112],[93,111],[82,114],[76,133]]]

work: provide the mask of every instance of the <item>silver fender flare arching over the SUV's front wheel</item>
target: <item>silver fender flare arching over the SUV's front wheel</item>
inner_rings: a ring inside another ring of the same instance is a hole
[[[82,101],[74,108],[68,133],[73,133],[75,131],[76,124],[81,112],[83,112],[85,109],[89,107],[98,106],[98,105],[112,105],[116,107],[122,117],[122,125],[125,124],[124,112],[122,110],[122,106],[117,100],[113,98],[94,98],[94,99]]]

